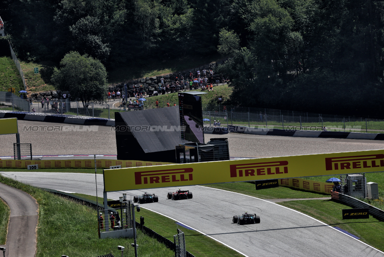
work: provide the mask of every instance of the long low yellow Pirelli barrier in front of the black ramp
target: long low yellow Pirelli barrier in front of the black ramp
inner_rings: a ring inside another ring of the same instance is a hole
[[[0,168],[26,169],[28,165],[38,165],[39,169],[60,169],[60,168],[86,168],[94,169],[93,159],[74,160],[0,160]],[[121,165],[121,167],[141,167],[152,165],[166,165],[170,162],[144,162],[138,160],[111,160],[96,159],[96,167],[109,169],[110,166]]]

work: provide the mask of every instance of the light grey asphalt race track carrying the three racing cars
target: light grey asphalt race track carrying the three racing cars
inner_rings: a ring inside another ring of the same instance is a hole
[[[38,187],[96,194],[94,174],[1,172],[2,175]],[[103,177],[97,175],[98,195],[103,194]],[[307,215],[272,202],[247,195],[202,186],[184,188],[193,193],[193,199],[168,200],[167,192],[175,188],[149,189],[159,196],[159,202],[142,204],[179,222],[182,222],[233,249],[251,256],[384,256],[359,240],[339,232]],[[142,190],[125,191],[141,195]],[[108,198],[119,199],[123,192],[110,192]],[[245,211],[260,216],[260,224],[237,225],[233,215]]]

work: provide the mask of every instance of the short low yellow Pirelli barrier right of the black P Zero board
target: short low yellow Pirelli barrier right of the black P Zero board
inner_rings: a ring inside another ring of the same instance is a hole
[[[312,191],[316,193],[331,194],[333,189],[333,183],[318,182],[307,179],[279,179],[279,186],[292,187],[295,189],[301,189],[305,191]]]

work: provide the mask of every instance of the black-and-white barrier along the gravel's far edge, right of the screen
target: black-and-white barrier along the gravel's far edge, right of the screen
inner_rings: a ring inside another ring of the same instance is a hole
[[[293,129],[292,130],[265,129],[265,128],[252,128],[252,127],[232,126],[232,125],[228,125],[228,130],[231,133],[251,134],[251,135],[384,140],[384,134],[380,134],[380,133],[321,131],[321,130],[293,130]]]

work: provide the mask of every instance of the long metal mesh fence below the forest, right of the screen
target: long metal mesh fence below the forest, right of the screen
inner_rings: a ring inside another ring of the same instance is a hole
[[[384,132],[384,120],[354,115],[328,115],[266,108],[207,105],[205,125],[219,120],[222,126],[239,125],[286,130],[327,130],[343,132]],[[325,126],[325,127],[324,127]]]

